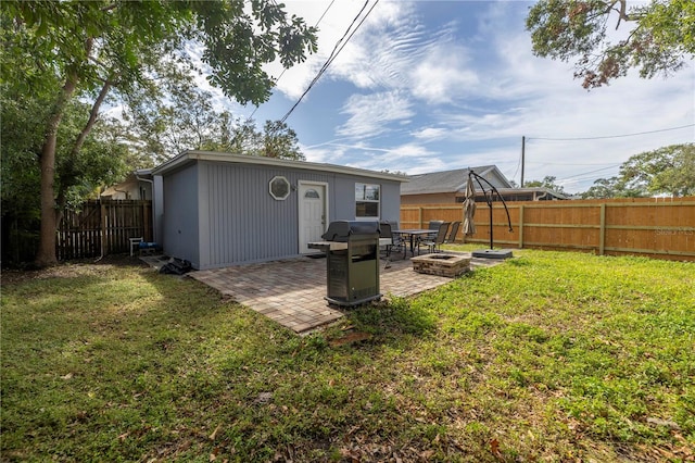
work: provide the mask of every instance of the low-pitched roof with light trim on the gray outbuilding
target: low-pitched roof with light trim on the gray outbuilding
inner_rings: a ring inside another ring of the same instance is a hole
[[[368,171],[366,168],[348,167],[336,164],[324,164],[306,161],[290,161],[286,159],[265,158],[255,155],[231,154],[215,151],[185,151],[179,155],[172,158],[152,171],[153,175],[162,175],[174,171],[178,167],[191,164],[195,161],[214,161],[229,164],[252,164],[252,165],[269,165],[283,168],[301,168],[305,171],[330,172],[334,174],[359,175],[363,177],[378,178],[384,180],[397,180],[401,183],[408,182],[408,177],[397,174],[389,174],[383,172]]]

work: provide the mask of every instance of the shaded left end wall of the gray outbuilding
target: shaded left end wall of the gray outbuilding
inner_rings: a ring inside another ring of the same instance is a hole
[[[198,166],[190,165],[168,174],[164,184],[163,246],[164,252],[200,263],[198,229]]]

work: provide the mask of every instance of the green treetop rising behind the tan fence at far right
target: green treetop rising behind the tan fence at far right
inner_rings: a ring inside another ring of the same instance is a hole
[[[695,195],[695,143],[671,145],[631,157],[616,177],[599,178],[583,198]]]

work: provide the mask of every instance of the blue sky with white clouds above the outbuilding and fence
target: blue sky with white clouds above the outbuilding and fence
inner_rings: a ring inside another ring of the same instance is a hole
[[[336,0],[326,12],[328,0],[285,3],[312,25],[325,13],[319,51],[282,74],[253,115],[260,125],[294,104],[364,5]],[[552,175],[578,192],[633,154],[695,141],[693,126],[577,140],[695,124],[694,63],[668,79],[632,72],[586,91],[572,63],[531,53],[531,4],[380,0],[287,120],[306,159],[407,174],[495,164],[518,184],[526,136],[525,179]],[[277,77],[281,67],[268,71]],[[254,111],[224,104],[240,116]]]

